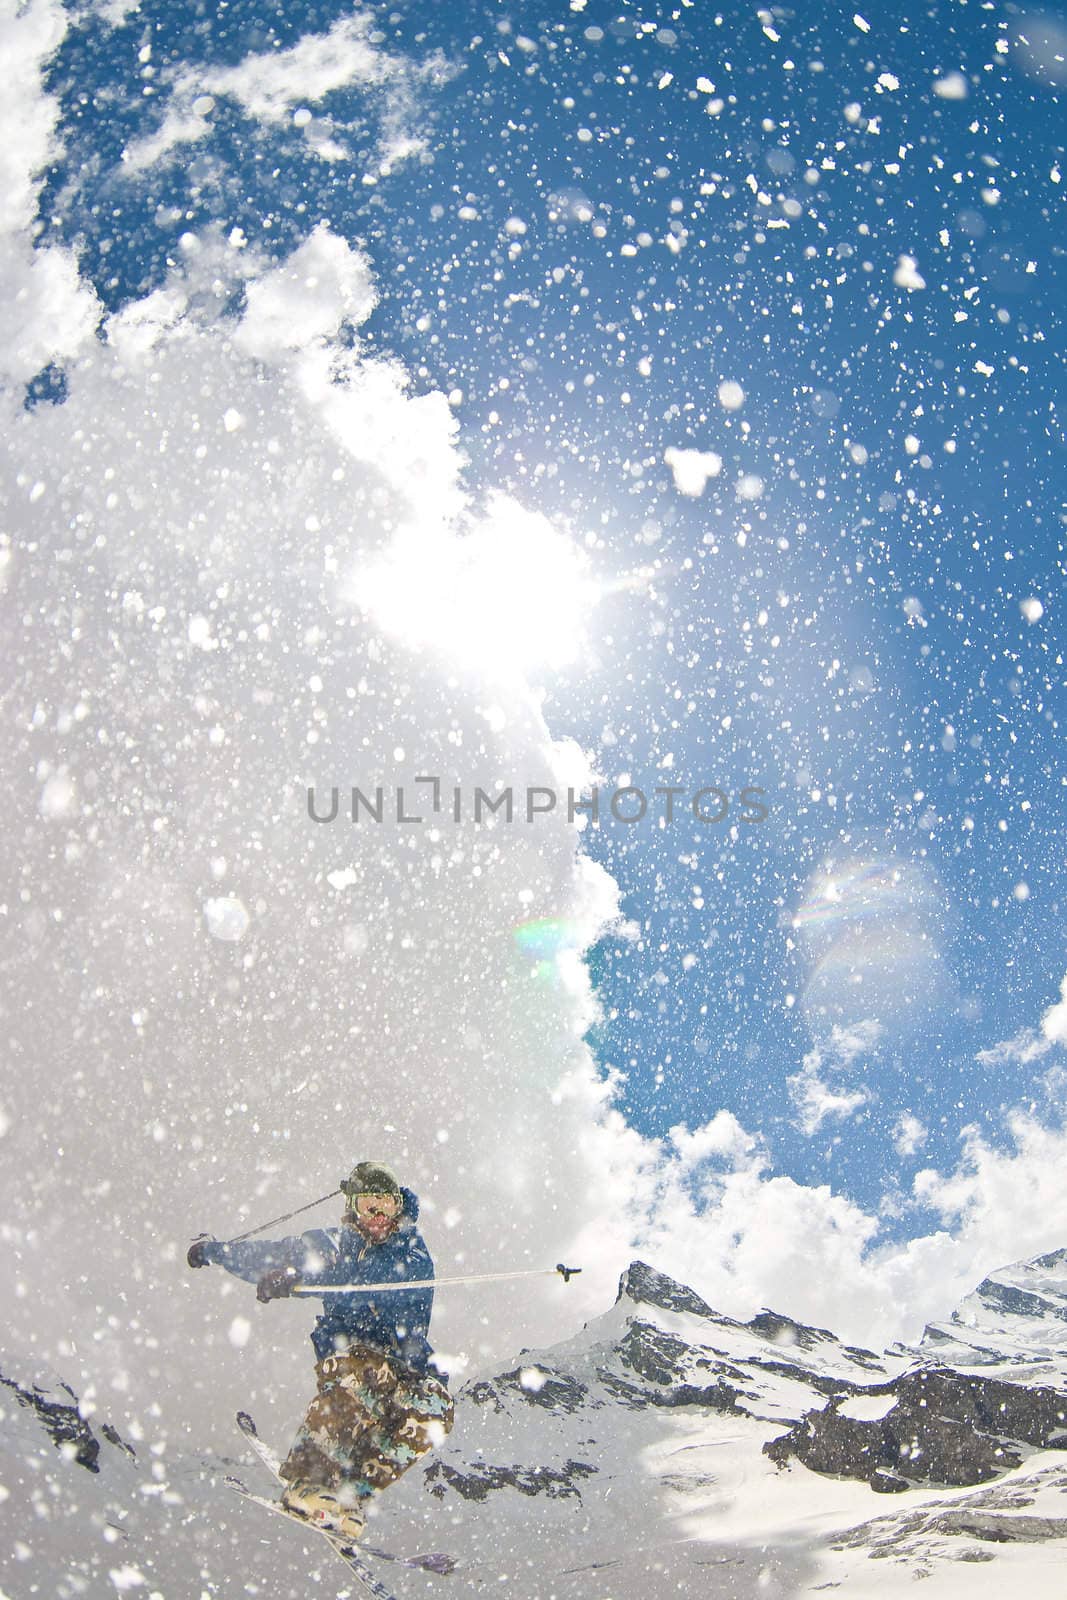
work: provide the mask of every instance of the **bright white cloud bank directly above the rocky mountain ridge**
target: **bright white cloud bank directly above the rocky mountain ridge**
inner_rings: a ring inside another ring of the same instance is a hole
[[[915,1339],[981,1278],[1067,1240],[1067,1126],[1008,1120],[1009,1149],[969,1133],[958,1166],[925,1171],[915,1195],[944,1226],[880,1243],[880,1218],[829,1186],[773,1176],[758,1136],[737,1130],[731,1154],[704,1158],[701,1130],[648,1141],[616,1114],[585,1134],[600,1205],[576,1259],[637,1250],[733,1317],[784,1310],[870,1349]]]

